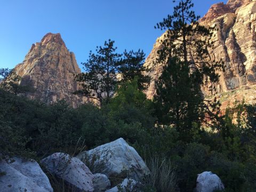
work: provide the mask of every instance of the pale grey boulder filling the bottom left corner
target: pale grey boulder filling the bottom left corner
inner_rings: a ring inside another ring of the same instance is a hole
[[[49,179],[35,160],[18,157],[13,160],[0,162],[0,191],[53,191]]]

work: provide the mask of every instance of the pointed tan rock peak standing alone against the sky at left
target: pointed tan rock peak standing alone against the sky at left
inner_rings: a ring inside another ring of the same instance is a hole
[[[40,43],[33,44],[15,71],[22,77],[22,85],[35,88],[35,92],[26,94],[30,99],[45,103],[65,99],[74,107],[86,101],[73,94],[77,90],[74,75],[81,70],[75,54],[68,51],[60,34],[48,33]]]

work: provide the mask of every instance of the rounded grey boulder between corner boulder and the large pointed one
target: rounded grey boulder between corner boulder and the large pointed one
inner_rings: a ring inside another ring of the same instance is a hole
[[[64,153],[54,153],[41,163],[47,171],[65,180],[76,188],[76,191],[93,191],[93,174],[88,167],[76,157]]]

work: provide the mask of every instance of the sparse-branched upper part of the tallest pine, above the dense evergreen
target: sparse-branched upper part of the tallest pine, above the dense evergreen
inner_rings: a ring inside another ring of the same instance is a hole
[[[173,1],[177,2],[177,1]],[[173,56],[179,57],[189,67],[189,73],[197,76],[197,83],[204,81],[215,83],[219,75],[215,72],[222,67],[222,62],[215,62],[209,54],[213,47],[211,37],[215,27],[206,28],[199,25],[199,16],[191,10],[191,0],[181,0],[174,7],[173,15],[167,15],[155,28],[166,30],[162,41],[163,49],[159,50],[158,62],[164,63]]]

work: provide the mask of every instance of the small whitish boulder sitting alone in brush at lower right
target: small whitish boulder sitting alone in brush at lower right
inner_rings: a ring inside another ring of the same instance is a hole
[[[197,175],[196,192],[213,192],[223,189],[225,187],[217,174],[213,174],[211,171],[205,171]]]

